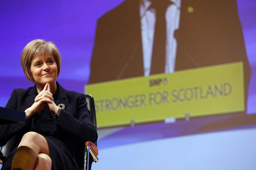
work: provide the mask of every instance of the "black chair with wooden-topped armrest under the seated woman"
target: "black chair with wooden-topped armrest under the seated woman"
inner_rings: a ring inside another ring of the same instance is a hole
[[[90,94],[85,95],[86,102],[91,119],[93,120],[93,124],[97,130],[97,121],[96,121],[96,111],[94,105],[93,96]],[[0,152],[0,162],[4,161],[6,156],[9,154],[11,147],[14,145],[15,136],[7,142],[5,146],[2,146]],[[73,145],[73,149],[75,152],[75,160],[78,164],[79,170],[90,170],[93,162],[98,161],[98,149],[97,142],[86,142],[85,144],[81,144],[81,142],[75,141]]]

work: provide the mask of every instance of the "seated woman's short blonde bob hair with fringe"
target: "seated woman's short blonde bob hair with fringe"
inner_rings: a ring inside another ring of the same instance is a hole
[[[32,40],[30,41],[23,49],[21,53],[21,65],[22,69],[27,77],[27,79],[33,83],[35,80],[32,76],[30,67],[31,61],[34,56],[44,56],[46,54],[53,55],[54,60],[57,65],[57,77],[59,76],[59,72],[61,71],[61,54],[59,53],[56,45],[51,41],[45,40]]]

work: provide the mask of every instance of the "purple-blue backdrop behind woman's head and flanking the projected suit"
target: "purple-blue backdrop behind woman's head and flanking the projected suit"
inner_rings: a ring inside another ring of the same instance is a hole
[[[56,43],[62,55],[58,82],[67,90],[83,93],[90,76],[97,19],[121,2],[123,0],[0,1],[0,106],[6,105],[14,88],[33,86],[24,76],[20,55],[23,47],[34,39]],[[255,113],[256,2],[237,2],[251,65],[248,113]]]

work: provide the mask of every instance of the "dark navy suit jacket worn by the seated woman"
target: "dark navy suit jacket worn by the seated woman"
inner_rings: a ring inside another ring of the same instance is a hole
[[[6,108],[24,112],[31,107],[36,96],[36,86],[15,89],[11,93]],[[4,164],[8,162],[9,157],[13,157],[22,136],[28,131],[35,131],[48,137],[71,157],[74,155],[72,145],[75,140],[83,145],[86,141],[97,140],[97,132],[90,118],[84,94],[67,91],[57,83],[55,100],[57,105],[65,105],[58,117],[44,109],[27,119],[26,123],[0,126],[0,146],[5,145],[11,137],[16,135],[15,144]]]

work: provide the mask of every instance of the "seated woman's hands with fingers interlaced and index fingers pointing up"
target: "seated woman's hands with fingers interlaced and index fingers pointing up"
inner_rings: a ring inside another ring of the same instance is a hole
[[[46,108],[49,112],[56,113],[58,111],[57,105],[53,102],[53,94],[50,92],[50,84],[46,83],[43,90],[35,97],[35,102],[30,108],[25,110],[28,117],[34,113]]]

